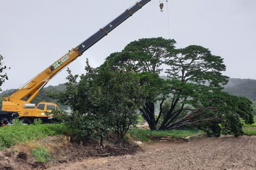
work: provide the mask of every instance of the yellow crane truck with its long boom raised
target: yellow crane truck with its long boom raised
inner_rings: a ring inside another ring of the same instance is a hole
[[[19,117],[24,123],[30,124],[34,119],[40,118],[43,122],[48,122],[52,119],[51,115],[46,115],[46,111],[59,109],[54,103],[39,102],[37,105],[30,103],[40,92],[41,89],[48,83],[49,80],[63,70],[67,65],[82,55],[85,50],[89,49],[96,42],[101,40],[110,31],[115,29],[123,21],[127,20],[136,11],[141,9],[150,0],[140,0],[129,9],[125,10],[116,19],[112,20],[106,26],[91,35],[77,47],[69,50],[65,55],[59,58],[52,65],[43,70],[40,74],[29,80],[25,85],[21,86],[9,97],[4,97],[2,110],[0,110],[0,126],[10,125],[16,117]]]

